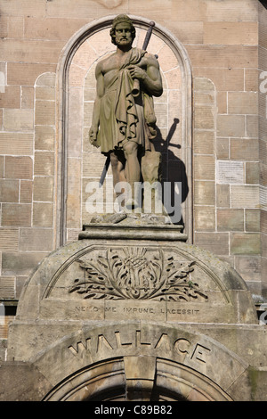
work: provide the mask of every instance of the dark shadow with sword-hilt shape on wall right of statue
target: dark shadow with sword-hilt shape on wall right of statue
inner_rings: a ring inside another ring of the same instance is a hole
[[[189,193],[189,186],[188,186],[188,178],[186,175],[186,168],[181,159],[175,156],[174,152],[169,150],[169,145],[172,147],[177,147],[181,149],[180,144],[172,144],[171,140],[174,136],[174,132],[176,130],[177,125],[179,124],[179,119],[174,118],[174,122],[170,127],[168,135],[166,136],[166,140],[162,137],[160,129],[157,127],[157,137],[153,141],[155,145],[156,152],[161,152],[162,155],[162,191],[164,196],[164,188],[165,182],[169,182],[171,185],[171,202],[170,205],[174,208],[175,202],[179,201],[175,195],[177,193],[182,193],[182,202],[184,202]],[[175,183],[181,183],[181,189],[177,189]],[[175,209],[174,209],[175,210]],[[169,212],[171,216],[172,213]],[[174,224],[179,224],[184,226],[184,220],[181,218],[179,221],[175,222]]]

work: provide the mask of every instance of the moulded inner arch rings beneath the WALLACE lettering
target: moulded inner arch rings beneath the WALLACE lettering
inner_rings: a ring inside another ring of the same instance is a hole
[[[150,362],[150,358],[145,358]],[[152,359],[153,363],[154,360]],[[153,379],[127,377],[125,357],[102,361],[55,386],[44,401],[233,401],[223,389],[197,371],[157,358]],[[138,382],[139,388],[136,386]],[[142,390],[140,390],[142,388]]]

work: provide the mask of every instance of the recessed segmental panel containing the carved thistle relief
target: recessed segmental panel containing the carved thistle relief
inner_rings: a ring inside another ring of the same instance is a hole
[[[44,299],[230,302],[220,279],[175,246],[92,245],[68,259]]]

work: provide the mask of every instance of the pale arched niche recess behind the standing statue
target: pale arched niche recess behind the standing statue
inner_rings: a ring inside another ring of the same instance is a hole
[[[69,39],[57,69],[57,245],[76,240],[93,214],[85,209],[86,185],[99,179],[105,158],[89,144],[95,97],[96,63],[115,51],[109,29],[115,16],[93,21]],[[134,46],[142,47],[150,21],[130,15],[137,29]],[[191,70],[182,44],[156,22],[148,47],[158,55],[164,94],[155,100],[158,136],[163,155],[163,180],[182,182],[182,218],[192,241],[191,187]],[[110,182],[108,173],[107,182]],[[110,183],[109,183],[110,185]],[[111,182],[112,185],[112,182]],[[104,197],[105,186],[103,188]],[[106,208],[107,209],[107,208]],[[112,209],[111,209],[112,211]]]

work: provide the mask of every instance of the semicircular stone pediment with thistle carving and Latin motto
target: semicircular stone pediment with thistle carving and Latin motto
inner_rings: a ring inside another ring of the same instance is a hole
[[[63,339],[66,322],[69,333],[95,321],[257,324],[250,293],[231,267],[177,242],[181,233],[169,242],[157,234],[141,240],[143,226],[134,231],[125,245],[122,237],[108,237],[99,229],[101,237],[70,243],[43,260],[21,294],[10,357],[30,359],[44,341],[49,345]],[[91,233],[89,226],[86,233]],[[34,346],[28,344],[32,333],[43,336]]]

